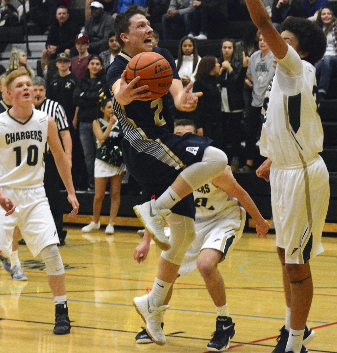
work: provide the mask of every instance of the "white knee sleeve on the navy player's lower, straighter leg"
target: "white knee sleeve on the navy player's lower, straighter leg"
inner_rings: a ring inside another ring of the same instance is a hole
[[[190,217],[172,213],[167,217],[170,226],[171,249],[161,252],[161,257],[176,265],[181,265],[192,241],[195,238],[194,220]]]

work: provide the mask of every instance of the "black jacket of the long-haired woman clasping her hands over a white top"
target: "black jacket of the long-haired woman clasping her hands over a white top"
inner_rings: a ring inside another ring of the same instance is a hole
[[[223,61],[223,60],[222,60]],[[219,60],[221,62],[221,59]],[[222,62],[221,62],[222,64]],[[233,71],[227,75],[223,71],[220,76],[220,84],[227,88],[229,110],[239,110],[244,108],[242,95],[243,83],[246,77],[247,67],[243,67],[241,61],[231,61]]]

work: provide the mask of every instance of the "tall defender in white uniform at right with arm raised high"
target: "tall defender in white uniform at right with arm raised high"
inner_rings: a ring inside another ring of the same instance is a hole
[[[268,159],[256,171],[270,180],[287,306],[273,353],[305,353],[304,344],[313,338],[306,327],[313,297],[309,259],[324,251],[321,235],[330,194],[329,173],[318,154],[323,128],[313,66],[325,52],[326,38],[315,23],[295,17],[282,23],[280,35],[261,0],[245,2],[277,62],[262,107],[260,153]]]

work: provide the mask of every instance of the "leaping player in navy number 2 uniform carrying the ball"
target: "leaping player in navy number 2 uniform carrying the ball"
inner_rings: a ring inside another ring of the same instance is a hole
[[[135,207],[136,214],[154,241],[165,250],[151,293],[134,299],[148,333],[155,343],[163,345],[166,339],[161,314],[167,308],[163,305],[164,299],[195,237],[192,192],[221,174],[227,165],[227,156],[210,146],[208,138],[174,135],[166,96],[151,101],[150,92],[142,92],[147,85],[134,88],[140,77],[129,84],[125,82],[125,67],[131,58],[152,51],[153,30],[146,16],[146,9],[137,5],[117,15],[115,33],[122,52],[108,68],[106,80],[123,133],[124,162],[143,188],[145,203]],[[191,84],[184,91],[172,55],[161,48],[153,51],[163,55],[172,67],[170,93],[176,108],[195,110],[202,93],[191,93]],[[155,199],[150,202],[153,195]],[[166,218],[171,229],[170,242],[163,231]]]

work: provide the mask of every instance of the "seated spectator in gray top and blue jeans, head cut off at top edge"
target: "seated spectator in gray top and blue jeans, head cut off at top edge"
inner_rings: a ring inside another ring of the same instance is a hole
[[[191,32],[191,14],[194,11],[193,0],[171,0],[166,13],[163,14],[163,38],[173,39],[171,34],[172,23],[180,24],[185,28],[185,35]],[[191,35],[192,36],[192,35]]]

